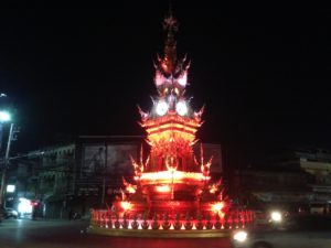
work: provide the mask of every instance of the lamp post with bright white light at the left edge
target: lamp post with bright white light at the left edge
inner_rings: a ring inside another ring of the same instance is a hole
[[[7,111],[0,111],[0,125],[2,126],[3,122],[10,121],[11,117],[10,114]],[[1,176],[1,187],[0,187],[0,206],[4,207],[4,183],[6,183],[6,174],[7,174],[7,166],[9,164],[9,152],[10,152],[10,143],[13,136],[13,123],[10,125],[9,136],[8,136],[8,142],[7,142],[7,149],[6,149],[6,155],[4,155],[4,164],[2,168],[2,176]],[[1,140],[0,140],[1,141]]]

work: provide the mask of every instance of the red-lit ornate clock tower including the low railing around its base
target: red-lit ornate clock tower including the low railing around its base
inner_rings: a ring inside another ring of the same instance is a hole
[[[194,111],[185,97],[190,62],[177,57],[172,15],[164,20],[164,56],[154,63],[158,96],[149,112],[139,108],[148,151],[145,154],[141,145],[140,157],[130,158],[134,182],[124,179],[120,200],[113,203],[111,211],[93,212],[93,222],[111,227],[111,216],[116,216],[117,229],[222,229],[234,222],[224,186],[221,180],[212,182],[213,157],[204,158],[202,144],[199,155],[194,154],[204,107]],[[241,216],[243,223],[252,219],[248,212]]]

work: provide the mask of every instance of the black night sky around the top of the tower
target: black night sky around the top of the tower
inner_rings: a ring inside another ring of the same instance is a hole
[[[17,150],[58,133],[143,133],[136,106],[149,110],[156,95],[168,1],[92,4],[1,9],[0,91],[18,111]],[[188,96],[206,105],[202,141],[234,153],[330,147],[330,9],[206,0],[173,11],[179,54],[192,61]]]

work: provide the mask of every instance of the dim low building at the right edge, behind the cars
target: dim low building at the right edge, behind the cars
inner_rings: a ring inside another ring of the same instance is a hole
[[[232,179],[234,195],[252,207],[282,206],[296,211],[331,203],[331,152],[325,149],[281,149],[264,153]]]

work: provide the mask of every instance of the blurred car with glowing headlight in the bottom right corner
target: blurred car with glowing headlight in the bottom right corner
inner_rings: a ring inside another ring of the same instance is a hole
[[[296,215],[264,228],[237,229],[234,248],[330,248],[331,216]]]

